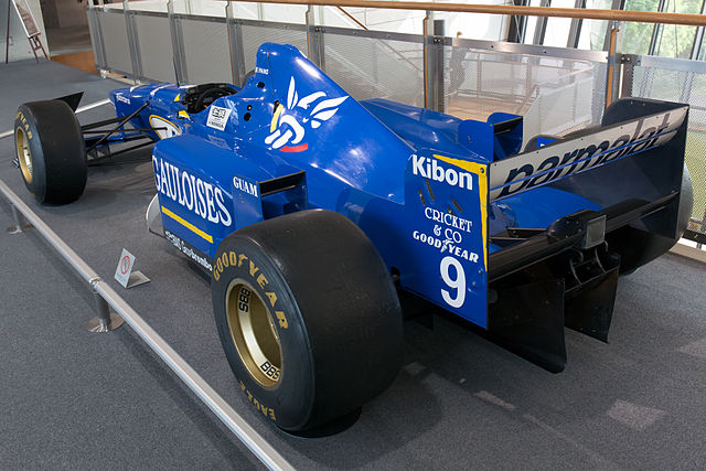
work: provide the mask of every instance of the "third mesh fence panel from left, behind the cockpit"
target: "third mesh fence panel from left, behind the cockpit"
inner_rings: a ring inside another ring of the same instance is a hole
[[[188,81],[192,84],[232,82],[225,22],[180,19],[179,23]]]

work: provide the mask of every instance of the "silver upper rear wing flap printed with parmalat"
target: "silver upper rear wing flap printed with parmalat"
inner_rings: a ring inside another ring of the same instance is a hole
[[[688,106],[682,104],[619,100],[606,111],[598,130],[588,129],[492,163],[490,200],[502,200],[659,148],[685,127]]]

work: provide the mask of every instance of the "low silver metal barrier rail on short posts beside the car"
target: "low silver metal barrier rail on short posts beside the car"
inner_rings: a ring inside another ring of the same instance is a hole
[[[51,227],[34,213],[10,188],[0,180],[0,194],[12,207],[17,228],[21,232],[19,211],[24,218],[34,226],[58,255],[62,256],[90,286],[94,293],[99,296],[140,335],[140,338],[157,353],[191,390],[221,419],[221,421],[271,470],[293,470],[295,468],[272,448],[254,428],[252,428],[218,393],[206,383],[174,349],[162,339],[120,296],[106,283],[98,274],[88,266],[62,240]]]

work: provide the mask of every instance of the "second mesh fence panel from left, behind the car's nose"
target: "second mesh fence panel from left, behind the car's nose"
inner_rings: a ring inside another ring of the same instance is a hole
[[[132,14],[143,77],[174,82],[174,51],[165,17]]]

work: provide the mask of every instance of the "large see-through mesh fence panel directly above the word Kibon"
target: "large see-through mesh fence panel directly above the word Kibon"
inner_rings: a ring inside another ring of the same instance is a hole
[[[445,46],[445,109],[485,120],[495,111],[524,116],[524,140],[561,135],[602,115],[606,65]]]

